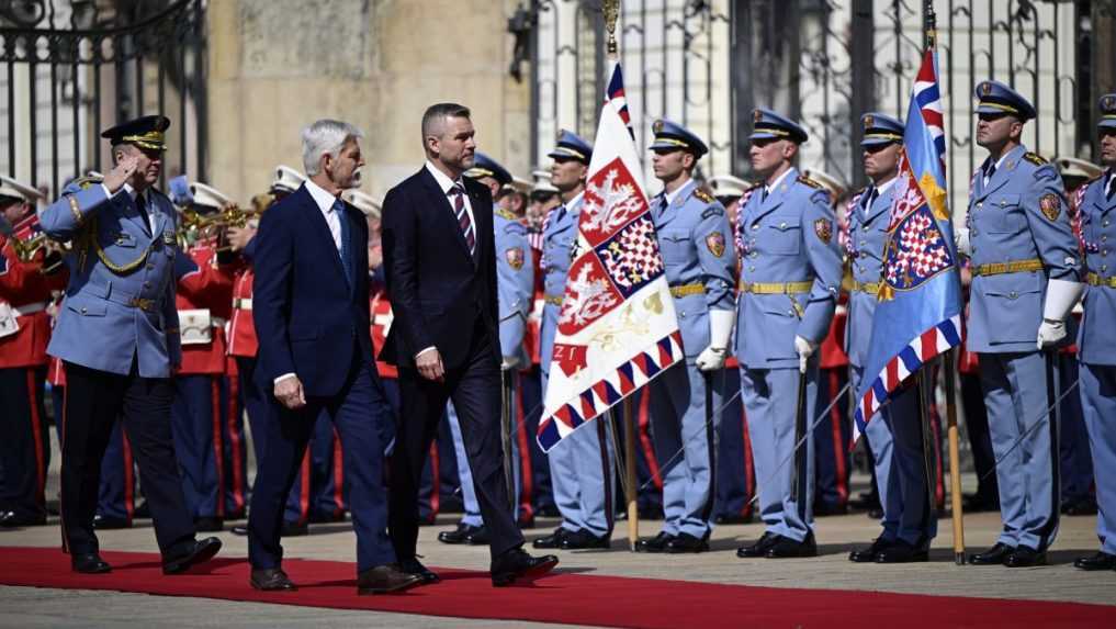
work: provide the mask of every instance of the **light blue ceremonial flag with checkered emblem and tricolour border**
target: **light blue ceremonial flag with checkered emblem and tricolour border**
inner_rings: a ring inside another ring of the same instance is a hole
[[[911,90],[854,442],[899,384],[961,344],[961,282],[946,207],[942,120],[937,56],[927,49]]]

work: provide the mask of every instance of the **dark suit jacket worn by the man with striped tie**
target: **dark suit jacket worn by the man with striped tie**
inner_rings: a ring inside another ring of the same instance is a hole
[[[477,221],[477,254],[446,197],[425,166],[384,198],[384,269],[395,318],[381,359],[414,366],[414,355],[435,346],[448,369],[469,358],[478,317],[496,346],[496,245],[492,197],[464,180]]]

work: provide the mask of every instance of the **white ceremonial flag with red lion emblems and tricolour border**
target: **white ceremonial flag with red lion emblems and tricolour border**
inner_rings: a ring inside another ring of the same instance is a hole
[[[539,422],[545,451],[684,356],[618,63],[607,85]]]

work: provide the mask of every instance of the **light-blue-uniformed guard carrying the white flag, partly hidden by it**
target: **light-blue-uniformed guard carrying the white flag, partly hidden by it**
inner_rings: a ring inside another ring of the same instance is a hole
[[[593,147],[576,134],[562,131],[549,153],[550,182],[558,189],[561,204],[548,217],[542,234],[542,273],[546,305],[540,331],[542,397],[546,399],[550,359],[554,355],[558,315],[566,295],[571,248],[577,240],[581,216],[585,178]],[[536,549],[607,549],[613,533],[613,461],[616,456],[609,439],[607,418],[595,422],[595,430],[575,431],[550,450],[550,482],[561,525],[550,535],[536,540]],[[569,444],[567,444],[569,441]]]

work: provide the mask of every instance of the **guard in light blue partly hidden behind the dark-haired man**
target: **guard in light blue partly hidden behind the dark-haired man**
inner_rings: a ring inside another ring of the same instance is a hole
[[[473,158],[473,168],[464,172],[464,177],[480,181],[492,191],[492,198],[499,196],[500,190],[511,184],[511,174],[496,160],[478,152]],[[531,295],[535,288],[535,269],[531,267],[530,244],[527,241],[527,228],[519,222],[509,210],[493,203],[492,227],[496,230],[496,273],[497,294],[499,297],[500,316],[500,352],[503,355],[501,370],[503,378],[510,379],[504,387],[510,387],[511,400],[516,399],[514,391],[518,389],[519,373],[521,365],[527,364],[527,352],[523,349],[523,331],[527,325],[527,315],[531,308]],[[461,426],[458,422],[458,414],[453,410],[453,404],[448,404],[450,418],[450,430],[453,435],[453,450],[458,460],[458,478],[461,480],[461,495],[464,502],[465,512],[454,531],[444,531],[437,535],[440,542],[446,544],[471,544],[487,545],[491,541],[488,528],[481,518],[480,503],[477,501],[477,492],[473,488],[473,477],[469,469],[469,460],[465,456],[465,444],[461,438]],[[513,469],[513,485],[510,488],[512,495],[517,496],[517,505],[521,478],[519,468],[519,431],[522,427],[522,418],[517,413],[514,404],[504,409],[511,414],[511,422],[514,430],[511,432],[511,461]]]

